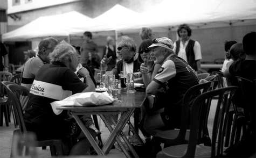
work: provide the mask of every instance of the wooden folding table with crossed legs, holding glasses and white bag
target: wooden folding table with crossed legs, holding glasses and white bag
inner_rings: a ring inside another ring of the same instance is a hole
[[[127,123],[129,123],[130,116],[132,116],[134,110],[141,106],[141,103],[143,102],[145,95],[146,95],[145,92],[136,91],[134,94],[127,94],[126,91],[122,90],[121,95],[119,96],[119,99],[122,100],[121,103],[113,103],[109,105],[91,106],[91,107],[61,106],[61,107],[58,107],[57,109],[69,110],[71,112],[75,121],[77,121],[82,132],[84,132],[88,141],[91,142],[91,145],[94,147],[98,155],[108,154],[109,150],[112,148],[112,146],[114,145],[114,142],[116,141],[121,147],[124,155],[126,155],[126,157],[132,157],[129,154],[126,147],[121,142],[121,139],[123,139],[127,147],[129,148],[130,152],[132,152],[132,154],[134,155],[134,157],[139,157],[135,152],[134,148],[132,147],[132,145],[130,145],[129,141],[126,138],[126,135],[124,135],[122,130],[124,126]],[[114,119],[112,118],[112,114],[116,114],[119,112],[121,112],[121,116],[117,121],[117,123],[115,123]],[[84,115],[84,114],[98,114],[100,118],[103,120],[103,122],[105,123],[105,125],[107,126],[108,130],[110,131],[110,135],[102,148],[98,146],[98,143],[96,143],[91,133],[89,133],[88,129],[85,127],[81,119],[78,117],[78,115]],[[110,120],[106,119],[107,115],[108,115],[108,118],[111,118]],[[115,125],[114,128],[111,126],[112,124]],[[132,127],[132,130],[134,130],[132,124],[129,123],[129,126]],[[137,135],[135,131],[134,133],[139,138],[139,135]]]

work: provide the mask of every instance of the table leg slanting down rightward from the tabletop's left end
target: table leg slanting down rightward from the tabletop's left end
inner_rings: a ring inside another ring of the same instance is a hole
[[[94,138],[92,137],[92,135],[89,132],[89,130],[82,123],[81,119],[77,115],[74,115],[72,112],[71,112],[71,114],[73,115],[75,121],[77,121],[77,123],[78,123],[79,127],[81,128],[82,132],[84,132],[84,134],[85,134],[86,138],[88,139],[88,141],[91,143],[91,145],[95,149],[96,153],[98,155],[105,155],[104,152],[100,149],[100,147],[96,143],[96,141],[94,140]]]

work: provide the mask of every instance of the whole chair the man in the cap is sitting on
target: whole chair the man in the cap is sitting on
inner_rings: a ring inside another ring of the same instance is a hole
[[[188,118],[189,118],[189,111],[190,106],[193,98],[200,94],[204,94],[207,91],[211,91],[217,87],[217,81],[211,81],[207,83],[202,83],[198,85],[194,85],[188,91],[186,91],[183,97],[183,106],[182,106],[182,120],[181,120],[181,130],[167,130],[167,131],[160,131],[157,132],[156,135],[153,137],[153,142],[162,142],[164,143],[164,147],[174,146],[178,144],[188,143],[189,140],[189,130],[188,129]],[[199,135],[198,135],[198,142],[203,142],[205,145],[211,145],[211,141],[209,139],[209,134],[207,130],[207,117],[209,115],[210,110],[210,100],[205,107],[207,109],[204,111],[204,119],[200,122],[199,127]]]

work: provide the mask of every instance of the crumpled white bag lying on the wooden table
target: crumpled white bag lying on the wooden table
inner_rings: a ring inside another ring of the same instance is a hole
[[[52,110],[55,114],[60,114],[63,110],[58,110],[60,106],[92,106],[113,103],[114,98],[107,92],[82,92],[69,96],[63,100],[52,102]]]

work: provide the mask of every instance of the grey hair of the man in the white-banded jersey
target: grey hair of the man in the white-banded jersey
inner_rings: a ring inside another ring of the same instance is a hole
[[[70,60],[72,56],[77,55],[77,51],[75,48],[68,44],[65,41],[61,41],[53,50],[52,53],[49,54],[51,63],[53,62],[61,62]]]

